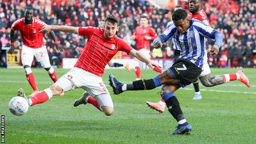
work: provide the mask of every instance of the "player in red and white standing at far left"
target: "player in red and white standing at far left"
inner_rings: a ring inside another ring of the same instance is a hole
[[[55,70],[50,65],[49,56],[46,50],[46,46],[43,42],[43,32],[39,32],[43,26],[47,25],[40,19],[33,17],[33,8],[26,7],[25,16],[17,21],[15,21],[11,25],[11,48],[9,53],[13,53],[14,47],[14,33],[16,30],[19,30],[22,37],[22,51],[21,51],[21,62],[25,70],[25,74],[27,77],[27,81],[30,86],[34,90],[34,92],[30,95],[38,93],[37,84],[34,80],[34,74],[31,70],[31,64],[33,62],[34,57],[38,62],[43,66],[43,68],[48,71],[50,78],[53,82],[56,82],[57,75]],[[59,45],[54,32],[50,32],[50,36],[54,40],[55,46],[57,50],[62,51],[62,47]],[[60,94],[63,96],[64,93]]]

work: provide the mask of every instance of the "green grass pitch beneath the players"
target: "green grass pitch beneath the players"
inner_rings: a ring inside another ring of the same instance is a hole
[[[159,88],[150,91],[127,91],[112,94],[108,86],[108,74],[112,73],[122,82],[131,82],[135,73],[125,69],[107,69],[103,81],[109,89],[114,114],[105,116],[90,104],[73,107],[83,89],[54,96],[43,104],[30,107],[27,114],[15,116],[9,112],[8,102],[18,88],[25,94],[32,93],[23,69],[0,69],[0,113],[5,115],[5,143],[7,144],[216,144],[255,143],[256,118],[256,69],[244,69],[250,78],[251,88],[239,81],[215,87],[200,83],[203,99],[194,101],[193,85],[175,92],[192,135],[170,135],[177,126],[168,110],[158,114],[146,106],[146,101],[160,100]],[[44,69],[33,68],[40,90],[53,82]],[[69,71],[56,69],[58,77]],[[238,69],[211,69],[212,75],[235,73]],[[142,78],[148,79],[158,73],[142,70]],[[231,92],[233,91],[233,92]]]

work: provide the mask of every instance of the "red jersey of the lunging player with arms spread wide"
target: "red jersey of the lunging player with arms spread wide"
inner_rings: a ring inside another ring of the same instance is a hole
[[[98,27],[79,27],[78,35],[86,35],[88,40],[74,67],[98,76],[104,73],[107,62],[118,51],[130,53],[133,48],[116,35],[112,39],[104,37],[104,29]]]

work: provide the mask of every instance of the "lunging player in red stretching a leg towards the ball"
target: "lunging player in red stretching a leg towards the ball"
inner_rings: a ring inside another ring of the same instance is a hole
[[[70,32],[78,35],[85,35],[88,41],[84,50],[78,58],[75,66],[65,75],[63,75],[54,85],[40,91],[39,93],[28,99],[23,89],[18,90],[18,96],[27,99],[30,106],[48,101],[53,95],[61,92],[69,91],[75,88],[82,88],[86,92],[81,98],[75,101],[74,106],[80,104],[91,103],[98,110],[101,110],[107,116],[114,112],[112,98],[103,83],[101,76],[107,62],[118,51],[124,51],[129,55],[145,62],[149,67],[157,66],[157,64],[146,58],[141,52],[130,47],[123,39],[118,38],[115,34],[119,29],[119,19],[114,15],[108,15],[105,18],[105,26],[98,27],[71,27],[62,25],[46,25],[41,31],[46,34],[52,30],[62,32]]]

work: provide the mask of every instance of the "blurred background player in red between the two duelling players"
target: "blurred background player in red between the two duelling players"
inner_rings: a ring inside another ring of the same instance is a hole
[[[131,37],[137,43],[137,50],[142,52],[146,57],[151,58],[150,56],[150,40],[154,40],[157,37],[155,31],[149,27],[148,15],[142,14],[139,20],[140,25],[135,28],[135,32]],[[162,73],[162,69],[159,67],[153,68],[153,70]],[[135,73],[136,80],[140,80],[140,68],[139,60],[135,58]]]

